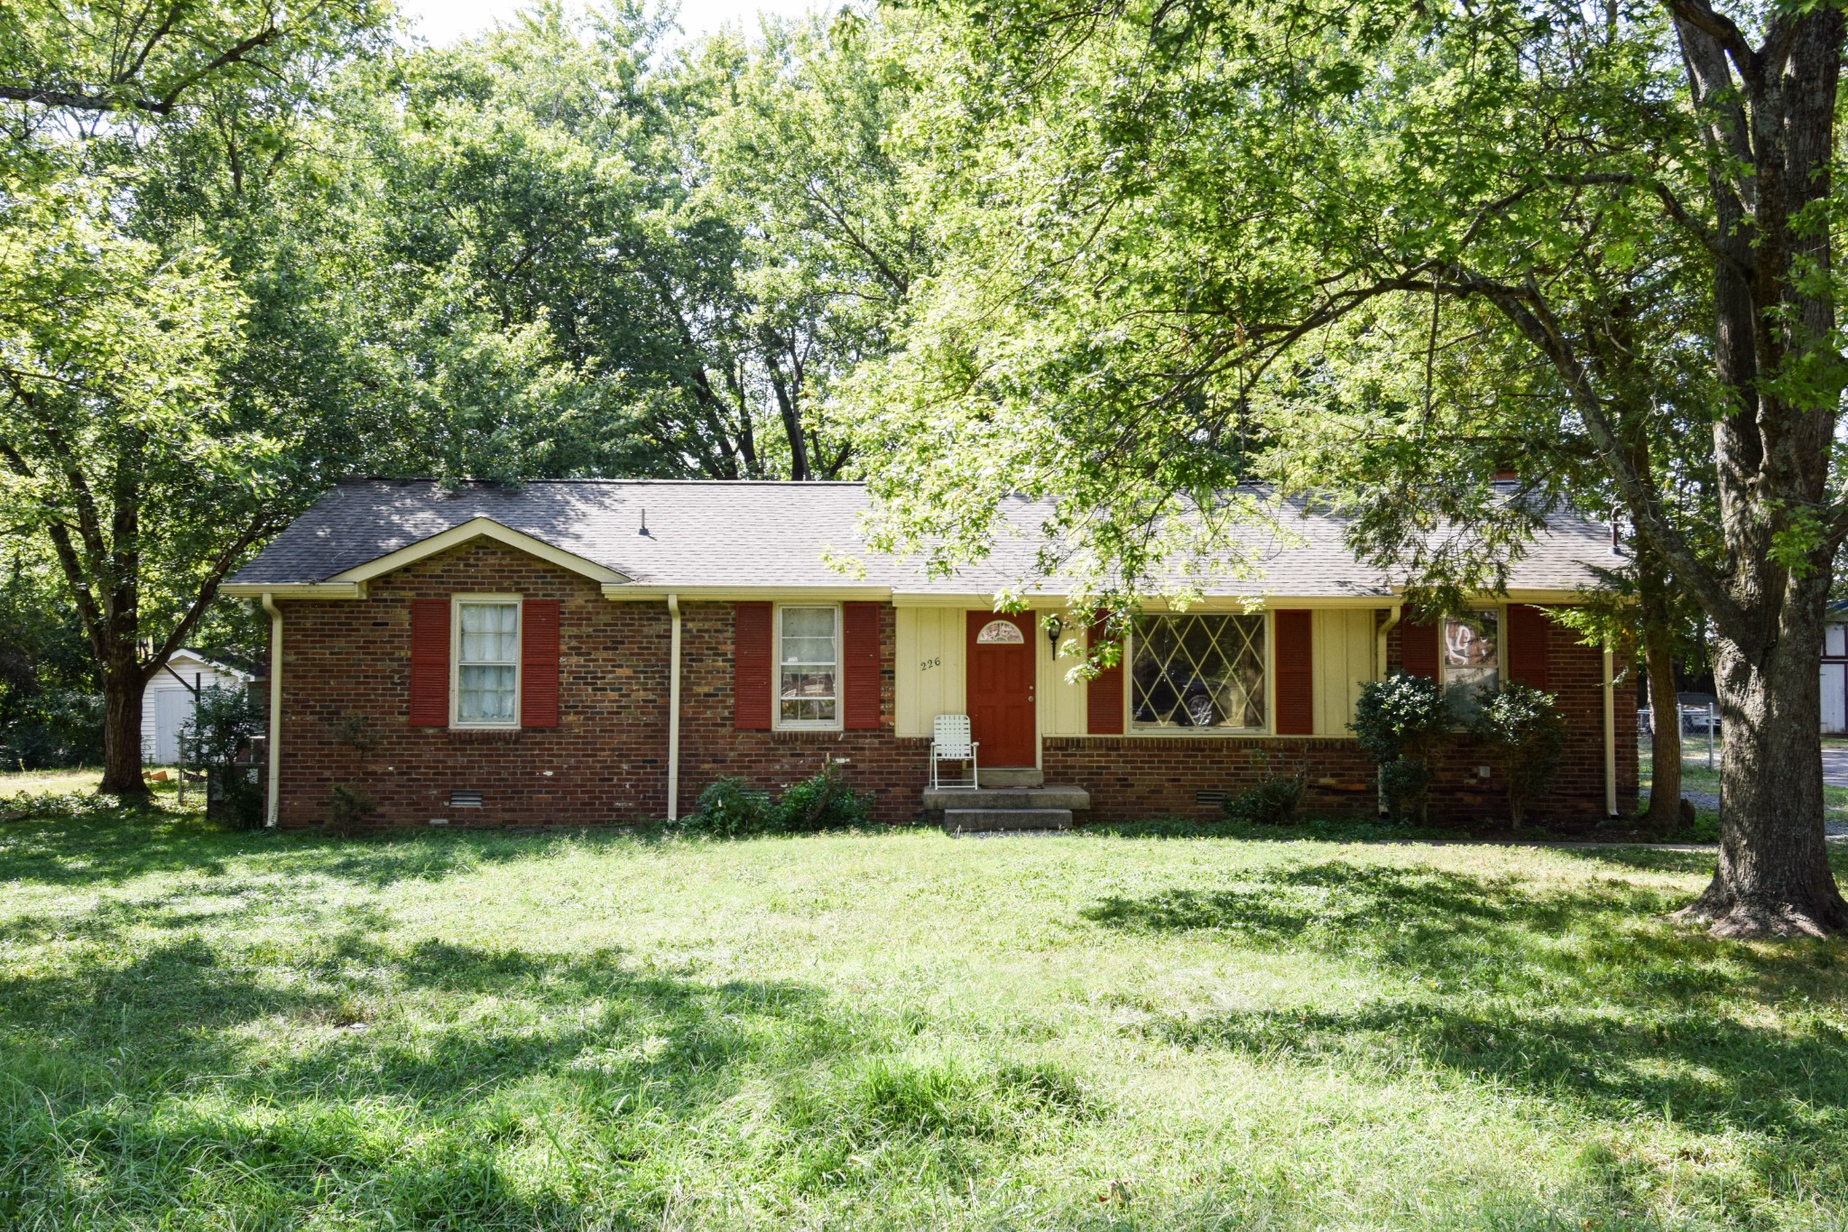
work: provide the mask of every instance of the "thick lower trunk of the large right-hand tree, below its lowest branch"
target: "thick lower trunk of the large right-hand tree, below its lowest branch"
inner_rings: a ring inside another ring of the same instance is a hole
[[[1680,912],[1711,920],[1715,936],[1826,936],[1848,927],[1822,837],[1820,602],[1815,608],[1815,628],[1787,621],[1759,663],[1724,637],[1715,646],[1720,859],[1713,883]]]

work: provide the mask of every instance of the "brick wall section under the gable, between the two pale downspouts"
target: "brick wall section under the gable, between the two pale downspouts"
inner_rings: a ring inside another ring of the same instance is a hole
[[[558,726],[412,728],[410,600],[451,593],[556,598]],[[353,602],[283,610],[281,824],[331,815],[336,783],[368,796],[373,826],[641,822],[667,791],[665,604],[612,604],[595,582],[475,539],[375,578]],[[368,750],[346,728],[364,724]],[[453,789],[482,807],[451,809]]]

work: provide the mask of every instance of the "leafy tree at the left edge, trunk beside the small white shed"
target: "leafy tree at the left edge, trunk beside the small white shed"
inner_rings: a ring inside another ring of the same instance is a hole
[[[140,696],[292,508],[299,425],[237,397],[249,297],[146,209],[207,124],[274,155],[384,9],[329,0],[0,11],[0,504],[57,560],[103,691],[105,792],[139,796]]]

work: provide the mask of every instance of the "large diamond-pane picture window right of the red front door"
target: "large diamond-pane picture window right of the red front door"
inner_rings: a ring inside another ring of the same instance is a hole
[[[1264,617],[1137,621],[1129,715],[1138,728],[1264,728]]]

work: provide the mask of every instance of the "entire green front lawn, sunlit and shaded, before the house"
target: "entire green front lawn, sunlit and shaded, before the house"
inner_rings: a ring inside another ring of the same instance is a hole
[[[1708,861],[0,824],[0,1226],[1844,1226]]]

